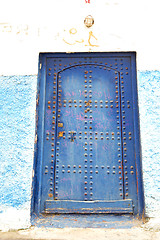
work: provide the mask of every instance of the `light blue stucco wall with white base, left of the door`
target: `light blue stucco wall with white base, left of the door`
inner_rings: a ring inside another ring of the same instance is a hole
[[[0,228],[29,226],[36,76],[0,77]]]

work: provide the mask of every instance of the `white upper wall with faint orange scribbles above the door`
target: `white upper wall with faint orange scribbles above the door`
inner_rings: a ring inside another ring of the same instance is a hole
[[[1,0],[0,75],[36,74],[45,51],[134,50],[139,70],[160,68],[158,0],[87,1]],[[90,14],[95,24],[88,29]]]

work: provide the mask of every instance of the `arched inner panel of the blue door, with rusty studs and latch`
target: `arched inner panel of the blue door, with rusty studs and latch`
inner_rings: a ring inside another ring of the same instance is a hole
[[[55,199],[123,199],[118,71],[79,65],[58,82]]]

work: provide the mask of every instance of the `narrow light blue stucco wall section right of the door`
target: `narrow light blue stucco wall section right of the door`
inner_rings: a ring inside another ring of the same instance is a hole
[[[160,72],[138,72],[139,110],[146,210],[160,214]]]

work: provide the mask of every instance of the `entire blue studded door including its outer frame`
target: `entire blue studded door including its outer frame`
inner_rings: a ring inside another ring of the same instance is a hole
[[[144,211],[136,54],[42,53],[32,211]]]

